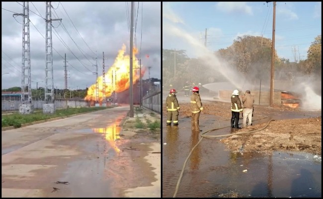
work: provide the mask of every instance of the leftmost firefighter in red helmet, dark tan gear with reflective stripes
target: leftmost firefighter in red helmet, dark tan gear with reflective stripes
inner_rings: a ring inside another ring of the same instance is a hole
[[[173,125],[178,125],[179,105],[175,93],[177,93],[175,89],[170,89],[166,98],[167,125],[171,125],[171,121],[173,121]]]

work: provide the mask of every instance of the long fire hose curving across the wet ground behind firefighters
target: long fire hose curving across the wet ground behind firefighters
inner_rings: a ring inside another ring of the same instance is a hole
[[[266,117],[264,117],[264,118],[266,118]],[[264,119],[264,118],[260,118],[260,119]],[[256,119],[256,120],[259,120],[259,119]],[[256,120],[254,120],[254,121],[256,121]],[[175,193],[174,193],[174,195],[173,195],[173,198],[176,198],[176,194],[177,194],[177,191],[178,191],[178,188],[179,188],[179,184],[180,184],[180,181],[181,181],[181,179],[182,179],[182,177],[183,177],[183,173],[184,173],[184,169],[185,169],[185,166],[186,166],[186,162],[188,161],[189,157],[191,156],[191,154],[192,154],[193,150],[197,147],[197,145],[202,141],[202,139],[203,139],[204,137],[206,137],[206,138],[215,138],[215,137],[227,137],[227,136],[232,136],[232,135],[241,135],[241,134],[247,134],[247,133],[254,133],[254,132],[261,131],[261,130],[263,130],[263,129],[267,128],[267,126],[269,125],[269,123],[270,123],[271,121],[275,121],[275,119],[270,119],[270,120],[267,122],[267,124],[266,124],[264,127],[260,128],[260,129],[252,130],[252,131],[247,131],[247,132],[240,132],[240,133],[238,132],[238,133],[225,134],[225,135],[205,135],[206,133],[211,132],[211,131],[215,131],[215,130],[219,130],[219,129],[223,129],[223,128],[230,127],[230,126],[225,126],[225,127],[222,127],[222,128],[215,128],[215,129],[211,129],[211,130],[208,130],[208,131],[205,131],[204,133],[202,133],[202,134],[201,134],[201,137],[202,137],[202,138],[201,138],[201,139],[198,141],[198,143],[197,143],[197,144],[192,148],[192,150],[190,151],[190,153],[188,154],[188,156],[187,156],[187,158],[186,158],[186,160],[185,160],[185,162],[184,162],[184,165],[183,165],[182,171],[181,171],[181,173],[180,173],[180,175],[179,175],[179,179],[178,179],[178,182],[177,182],[177,185],[176,185],[176,189],[175,189]]]

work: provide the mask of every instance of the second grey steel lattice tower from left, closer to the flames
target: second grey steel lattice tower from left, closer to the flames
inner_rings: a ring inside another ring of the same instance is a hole
[[[46,69],[45,69],[45,101],[54,103],[54,76],[53,76],[53,40],[51,1],[46,1]],[[50,89],[50,93],[49,90]]]

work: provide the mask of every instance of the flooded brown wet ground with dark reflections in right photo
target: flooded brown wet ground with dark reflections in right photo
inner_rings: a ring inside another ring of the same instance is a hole
[[[188,99],[179,97],[179,102]],[[204,103],[212,101],[204,100]],[[289,112],[273,115],[273,119],[292,119],[321,116],[321,111]],[[306,153],[243,153],[232,152],[220,142],[221,138],[207,135],[233,133],[229,120],[212,115],[200,119],[200,133],[191,131],[191,118],[179,118],[178,126],[162,123],[162,197],[189,198],[321,198],[322,157]],[[264,115],[253,117],[253,123],[268,121]],[[165,121],[165,117],[163,117]],[[188,158],[183,176],[180,173],[191,149],[202,139]]]

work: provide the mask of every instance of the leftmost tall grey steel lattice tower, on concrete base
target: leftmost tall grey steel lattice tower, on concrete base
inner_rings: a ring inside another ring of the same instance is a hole
[[[22,14],[22,66],[21,66],[21,101],[31,105],[31,68],[30,68],[30,36],[29,36],[29,2],[23,1]],[[30,107],[32,112],[32,107]]]

